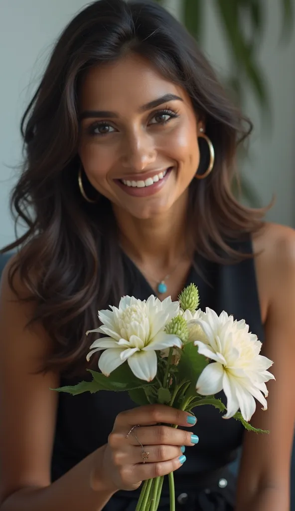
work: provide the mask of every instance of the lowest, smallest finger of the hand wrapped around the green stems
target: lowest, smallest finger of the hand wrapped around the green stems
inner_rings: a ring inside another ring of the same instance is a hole
[[[185,460],[186,457],[182,454],[181,456],[177,456],[169,461],[133,465],[131,477],[132,479],[134,478],[135,482],[137,482],[138,480],[144,481],[145,479],[165,476],[182,467]]]

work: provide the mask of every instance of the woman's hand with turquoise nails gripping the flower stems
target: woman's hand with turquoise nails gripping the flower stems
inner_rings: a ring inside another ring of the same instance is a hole
[[[141,406],[119,413],[104,452],[104,477],[116,490],[135,490],[145,479],[179,469],[185,461],[181,447],[193,446],[199,438],[189,431],[158,424],[189,427],[195,422],[195,417],[187,412],[164,405]],[[130,432],[137,425],[140,427]],[[149,453],[145,462],[136,437]]]

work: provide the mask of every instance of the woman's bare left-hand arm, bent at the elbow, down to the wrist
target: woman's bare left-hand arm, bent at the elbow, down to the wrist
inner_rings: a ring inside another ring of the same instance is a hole
[[[18,290],[23,292],[21,286]],[[56,374],[36,374],[51,350],[42,328],[26,329],[32,305],[19,303],[6,268],[0,295],[0,509],[99,511],[114,487],[100,473],[105,447],[51,484],[51,455],[59,384]]]

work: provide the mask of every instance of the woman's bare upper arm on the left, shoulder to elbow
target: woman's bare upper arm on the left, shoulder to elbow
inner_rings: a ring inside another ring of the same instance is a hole
[[[21,299],[30,292],[17,268],[10,285],[16,262],[17,256],[9,260],[0,287],[0,505],[15,489],[50,484],[57,411],[50,388],[59,383],[58,375],[40,371],[52,342],[41,324],[28,326],[34,301]]]

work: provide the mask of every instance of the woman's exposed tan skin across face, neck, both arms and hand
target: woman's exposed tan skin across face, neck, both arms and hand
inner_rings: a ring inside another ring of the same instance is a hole
[[[142,105],[168,93],[183,101],[139,112]],[[159,108],[177,109],[179,117],[165,125],[150,124]],[[88,130],[101,118],[81,121],[79,154],[86,176],[112,201],[121,244],[152,286],[151,275],[161,280],[167,268],[177,265],[169,280],[169,294],[175,298],[191,263],[190,254],[183,255],[184,212],[187,187],[199,164],[198,130],[204,125],[185,91],[132,56],[86,76],[80,113],[102,109],[117,114],[116,119],[103,118],[111,129],[102,138]],[[130,174],[137,179],[166,166],[174,169],[154,196],[131,197],[114,181]],[[245,435],[236,511],[288,511],[295,418],[295,233],[265,224],[253,241],[259,253],[255,264],[266,333],[263,354],[274,360],[277,381],[268,383],[268,410],[258,406],[252,419],[271,433]],[[17,287],[26,295],[20,283]],[[59,375],[36,374],[40,359],[52,349],[51,341],[40,325],[26,329],[32,304],[14,298],[6,268],[0,295],[1,511],[99,511],[118,489],[132,490],[143,479],[179,468],[181,446],[191,446],[189,429],[154,425],[167,422],[167,417],[168,423],[186,425],[187,414],[160,405],[139,407],[117,416],[108,445],[51,484],[58,396],[49,388],[58,386]],[[144,465],[139,464],[141,448],[134,436],[125,438],[134,424],[142,425],[137,434],[151,453]]]

